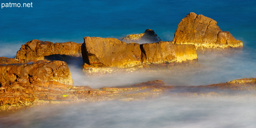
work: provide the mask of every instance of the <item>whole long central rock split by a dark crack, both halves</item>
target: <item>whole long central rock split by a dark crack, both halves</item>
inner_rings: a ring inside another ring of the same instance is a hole
[[[82,44],[83,72],[88,75],[112,72],[133,72],[145,64],[197,62],[194,45],[156,42],[136,44],[116,38],[84,37]]]

